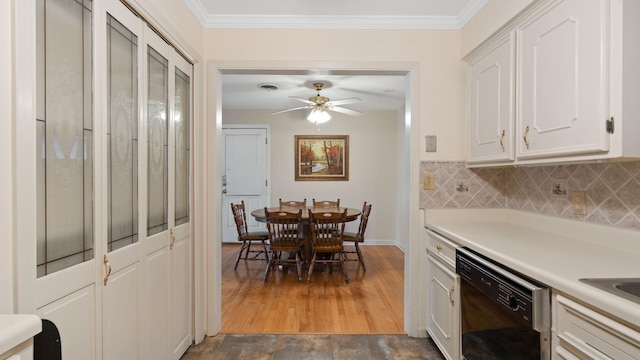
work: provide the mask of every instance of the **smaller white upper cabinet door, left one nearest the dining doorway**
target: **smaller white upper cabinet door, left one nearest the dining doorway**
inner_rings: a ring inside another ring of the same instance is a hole
[[[514,33],[492,41],[470,59],[467,159],[513,161]]]

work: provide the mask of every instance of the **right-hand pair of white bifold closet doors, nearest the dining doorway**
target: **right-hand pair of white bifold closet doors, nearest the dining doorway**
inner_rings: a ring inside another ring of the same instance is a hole
[[[149,359],[179,359],[193,338],[191,66],[150,28],[145,28],[144,51],[142,353]]]

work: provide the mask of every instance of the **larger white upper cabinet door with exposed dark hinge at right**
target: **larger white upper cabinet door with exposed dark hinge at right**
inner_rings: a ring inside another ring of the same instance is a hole
[[[609,150],[606,9],[555,1],[518,27],[518,158]]]

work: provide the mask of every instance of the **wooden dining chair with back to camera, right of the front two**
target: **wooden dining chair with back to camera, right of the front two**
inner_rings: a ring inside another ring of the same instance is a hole
[[[347,220],[347,209],[344,212],[313,212],[311,209],[308,209],[308,211],[313,256],[309,265],[307,282],[311,281],[311,275],[313,275],[313,268],[316,263],[338,263],[344,275],[344,281],[349,283],[347,272],[344,270],[344,246],[342,243],[342,233]],[[322,253],[323,256],[318,257],[319,253]],[[338,257],[336,258],[335,255],[338,255]]]

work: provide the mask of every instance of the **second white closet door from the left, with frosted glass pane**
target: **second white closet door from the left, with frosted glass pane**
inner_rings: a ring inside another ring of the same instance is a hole
[[[105,1],[105,12],[102,353],[103,359],[135,359],[141,351],[138,153],[143,27],[119,1]]]

